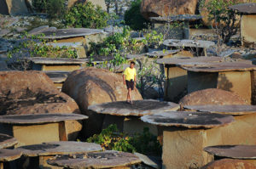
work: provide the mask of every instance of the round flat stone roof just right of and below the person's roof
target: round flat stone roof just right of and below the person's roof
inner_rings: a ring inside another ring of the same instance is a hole
[[[234,120],[232,115],[209,112],[170,111],[154,115],[144,115],[142,121],[163,127],[213,128],[225,126]]]

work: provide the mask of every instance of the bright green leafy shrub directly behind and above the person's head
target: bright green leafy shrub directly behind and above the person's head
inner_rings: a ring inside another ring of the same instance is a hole
[[[163,35],[158,34],[156,31],[146,34],[143,40],[137,40],[131,38],[129,27],[124,27],[122,33],[114,33],[104,39],[102,43],[90,43],[91,63],[93,63],[92,56],[106,57],[108,61],[104,62],[100,67],[108,70],[118,70],[121,65],[127,63],[125,54],[141,54],[145,46],[148,48],[158,48],[162,42]],[[148,65],[145,67],[148,68]]]

